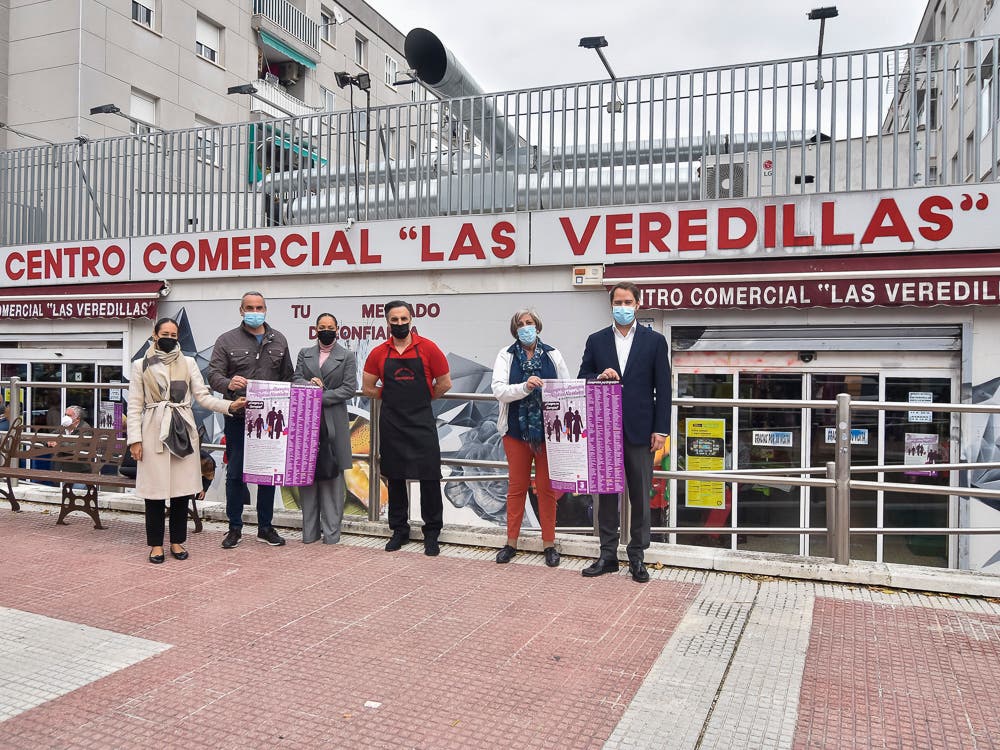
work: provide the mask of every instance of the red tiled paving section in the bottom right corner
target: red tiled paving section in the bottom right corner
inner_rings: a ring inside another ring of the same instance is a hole
[[[1000,617],[817,599],[796,748],[1000,747]]]

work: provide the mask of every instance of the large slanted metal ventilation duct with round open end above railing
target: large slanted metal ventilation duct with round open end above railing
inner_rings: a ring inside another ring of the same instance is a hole
[[[403,43],[406,63],[420,81],[442,99],[470,97],[471,106],[451,108],[452,115],[472,131],[488,133],[485,144],[493,158],[504,157],[510,161],[516,156],[523,141],[517,133],[498,116],[493,102],[484,96],[482,88],[445,47],[437,35],[427,29],[413,29]],[[495,121],[497,127],[483,128],[483,122]],[[477,125],[478,123],[478,125]]]

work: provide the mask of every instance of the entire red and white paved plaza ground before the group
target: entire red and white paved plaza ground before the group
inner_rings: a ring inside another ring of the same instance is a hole
[[[0,511],[0,747],[1000,747],[1000,605]]]

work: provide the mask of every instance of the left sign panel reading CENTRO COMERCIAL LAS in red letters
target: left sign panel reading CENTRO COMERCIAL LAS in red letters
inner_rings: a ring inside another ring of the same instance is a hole
[[[2,252],[7,285],[527,265],[527,215],[137,237]]]

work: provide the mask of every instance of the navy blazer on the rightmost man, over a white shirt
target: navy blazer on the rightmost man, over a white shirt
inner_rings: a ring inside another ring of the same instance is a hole
[[[625,372],[618,367],[613,326],[587,338],[578,378],[594,380],[609,367],[622,384],[622,427],[625,439],[648,445],[654,432],[670,434],[670,358],[663,334],[636,324],[635,340]]]

